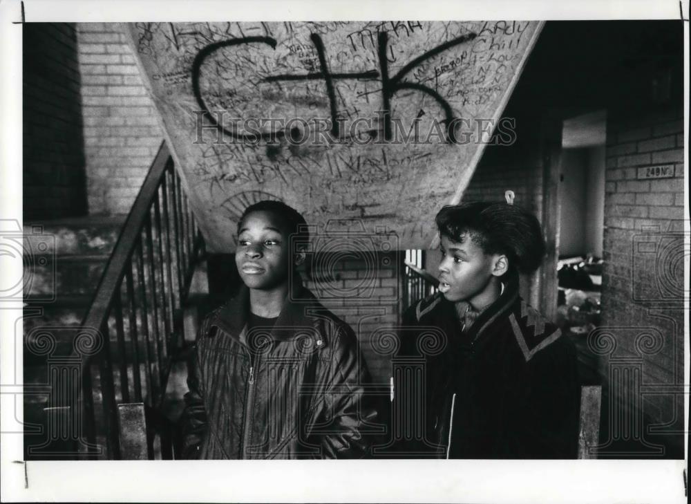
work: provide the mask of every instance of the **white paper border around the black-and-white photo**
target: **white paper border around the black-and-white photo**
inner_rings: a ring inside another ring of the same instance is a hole
[[[688,1],[582,0],[62,1],[25,0],[26,21],[283,21],[363,19],[688,19]],[[21,223],[21,8],[0,3],[0,218]],[[688,135],[689,28],[685,30]],[[688,149],[685,146],[685,187]],[[685,203],[689,225],[688,189]],[[688,236],[688,234],[687,234]],[[688,257],[685,288],[689,288]],[[3,265],[6,263],[3,262]],[[21,258],[11,271],[21,272]],[[15,269],[16,268],[16,269]],[[19,273],[21,274],[21,273]],[[689,312],[685,307],[685,376]],[[686,502],[685,460],[343,460],[22,462],[21,303],[0,304],[1,500],[6,501],[359,501],[475,503]],[[21,345],[19,345],[21,348]],[[21,350],[19,350],[21,352]],[[15,378],[19,377],[19,383]],[[688,389],[688,384],[686,385]],[[17,409],[15,410],[15,405]],[[688,430],[688,394],[685,395]],[[21,424],[19,424],[21,426]],[[7,432],[7,433],[6,433]],[[688,436],[688,435],[687,435]],[[688,441],[685,446],[688,446]],[[688,453],[685,452],[688,458]]]

